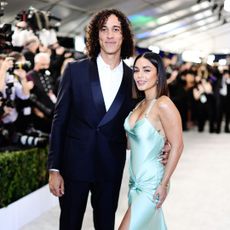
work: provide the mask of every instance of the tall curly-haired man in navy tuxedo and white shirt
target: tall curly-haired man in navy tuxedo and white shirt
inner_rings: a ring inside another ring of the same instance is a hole
[[[60,229],[81,229],[91,192],[95,229],[114,229],[126,156],[124,119],[132,108],[133,55],[126,16],[102,10],[87,30],[89,59],[70,63],[60,84],[48,168],[60,197]]]

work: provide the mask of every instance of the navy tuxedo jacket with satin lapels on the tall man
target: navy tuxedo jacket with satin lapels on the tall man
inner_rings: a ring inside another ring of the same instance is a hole
[[[120,180],[126,157],[124,120],[133,107],[132,71],[106,111],[96,60],[68,64],[54,112],[48,168],[80,181]],[[109,76],[108,76],[109,77]]]

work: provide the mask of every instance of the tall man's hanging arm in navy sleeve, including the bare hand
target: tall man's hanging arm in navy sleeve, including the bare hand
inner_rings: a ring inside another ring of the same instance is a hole
[[[51,193],[58,197],[64,194],[64,180],[59,172],[59,169],[61,164],[61,155],[64,154],[63,140],[65,139],[64,137],[66,134],[68,115],[70,114],[70,75],[70,66],[68,65],[59,87],[50,135],[48,155],[49,187]]]

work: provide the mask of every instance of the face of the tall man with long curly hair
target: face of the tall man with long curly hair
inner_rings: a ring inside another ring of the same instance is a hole
[[[111,14],[99,30],[101,53],[106,55],[120,55],[122,41],[121,23],[117,16]]]

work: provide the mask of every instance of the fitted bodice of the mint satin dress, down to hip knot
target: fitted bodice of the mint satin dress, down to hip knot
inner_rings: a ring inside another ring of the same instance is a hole
[[[164,166],[160,162],[159,156],[165,143],[164,136],[156,130],[148,119],[148,113],[154,102],[150,104],[145,116],[138,120],[133,127],[130,126],[132,112],[124,123],[131,148],[129,167],[131,187],[134,183],[135,188],[144,189],[151,194],[164,173]]]

